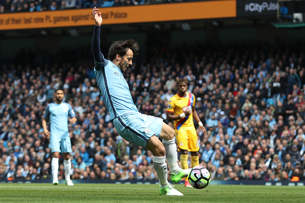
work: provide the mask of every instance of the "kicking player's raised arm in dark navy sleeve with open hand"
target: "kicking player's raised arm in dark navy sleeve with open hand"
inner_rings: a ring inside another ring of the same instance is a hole
[[[94,60],[96,60],[96,62],[98,63],[103,63],[104,56],[101,52],[101,47],[100,47],[101,45],[100,33],[101,33],[101,25],[103,22],[103,18],[101,12],[98,11],[99,9],[97,9],[97,7],[94,7],[92,10],[93,19],[94,22],[96,22],[96,26],[94,27],[91,49]],[[97,70],[97,66],[96,66],[96,70]]]

